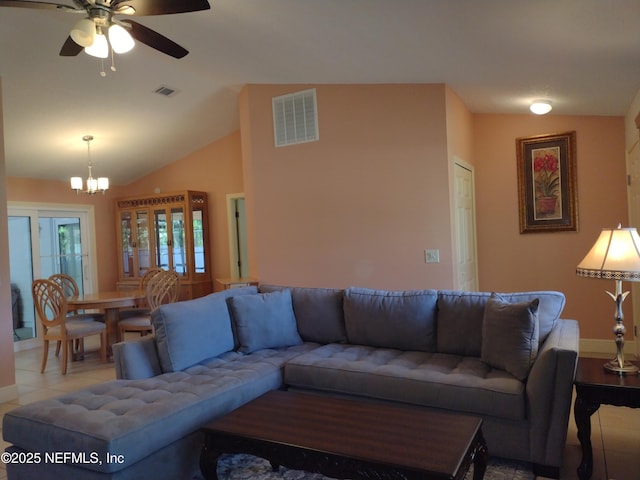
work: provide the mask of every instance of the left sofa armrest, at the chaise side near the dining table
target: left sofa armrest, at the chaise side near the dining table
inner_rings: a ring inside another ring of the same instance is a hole
[[[162,373],[154,337],[114,344],[113,360],[118,379],[137,380]]]

